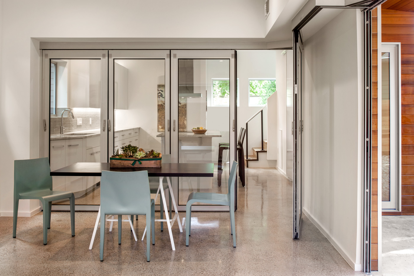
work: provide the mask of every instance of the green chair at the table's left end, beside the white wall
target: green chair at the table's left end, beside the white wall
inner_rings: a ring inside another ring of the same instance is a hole
[[[48,243],[52,201],[70,200],[70,223],[75,236],[75,196],[71,191],[53,191],[49,159],[14,160],[13,237],[16,237],[19,199],[39,199],[43,206],[43,245]]]

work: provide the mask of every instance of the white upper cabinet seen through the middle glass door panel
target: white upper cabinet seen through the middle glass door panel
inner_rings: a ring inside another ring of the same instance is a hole
[[[114,108],[128,109],[128,69],[114,62]]]

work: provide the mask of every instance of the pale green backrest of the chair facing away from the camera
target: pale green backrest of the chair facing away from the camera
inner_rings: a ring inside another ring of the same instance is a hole
[[[101,211],[111,215],[145,215],[151,211],[148,171],[102,171]]]

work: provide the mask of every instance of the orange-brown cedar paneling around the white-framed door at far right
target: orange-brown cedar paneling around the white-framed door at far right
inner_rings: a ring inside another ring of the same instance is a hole
[[[399,8],[403,1],[382,5],[382,42],[401,42],[401,161],[402,212],[383,215],[414,215],[414,12]]]

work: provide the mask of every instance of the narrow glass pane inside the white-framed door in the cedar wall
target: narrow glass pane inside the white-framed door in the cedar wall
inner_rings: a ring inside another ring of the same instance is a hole
[[[382,53],[382,201],[390,201],[390,53]]]

